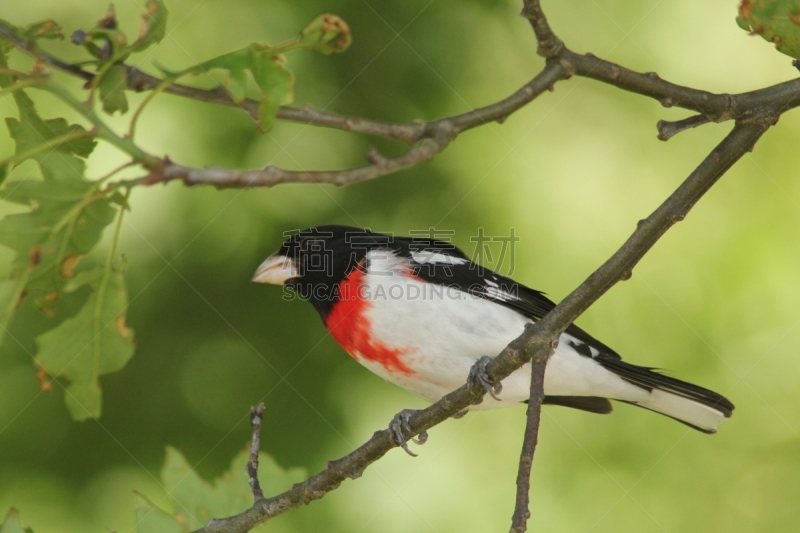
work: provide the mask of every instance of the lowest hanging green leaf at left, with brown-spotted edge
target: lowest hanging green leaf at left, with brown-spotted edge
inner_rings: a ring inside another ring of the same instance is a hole
[[[101,413],[98,378],[120,370],[133,355],[133,331],[125,323],[128,293],[122,272],[92,284],[83,308],[36,338],[36,363],[48,374],[69,381],[65,402],[76,420]]]

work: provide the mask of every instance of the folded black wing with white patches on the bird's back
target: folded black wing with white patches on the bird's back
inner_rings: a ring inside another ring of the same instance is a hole
[[[429,283],[456,287],[513,309],[532,320],[541,319],[556,306],[543,292],[473,263],[452,243],[427,238],[395,238],[395,245],[411,262],[414,275]],[[612,359],[621,359],[614,350],[575,324],[570,324],[565,332],[577,339],[578,342],[571,342],[571,345],[581,355],[596,357],[603,354]]]

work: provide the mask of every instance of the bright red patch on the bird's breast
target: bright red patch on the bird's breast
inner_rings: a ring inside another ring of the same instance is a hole
[[[366,311],[372,305],[364,296],[364,272],[356,269],[339,283],[339,301],[325,320],[325,326],[353,359],[366,359],[380,363],[389,372],[413,374],[402,357],[409,349],[390,348],[372,333],[372,324]]]

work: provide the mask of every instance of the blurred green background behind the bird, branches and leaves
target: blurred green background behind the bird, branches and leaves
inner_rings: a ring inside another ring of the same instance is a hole
[[[119,0],[136,33],[143,2]],[[390,121],[433,119],[503,98],[543,62],[520,3],[411,0],[171,0],[169,35],[134,56],[183,68],[253,41],[292,37],[321,12],[348,21],[345,54],[293,53],[296,104]],[[105,0],[2,2],[0,18],[91,27]],[[576,51],[719,92],[797,75],[790,59],[734,22],[736,2],[548,1]],[[68,42],[44,47],[84,58]],[[208,79],[196,79],[210,86]],[[76,91],[79,85],[72,82]],[[45,117],[63,115],[31,91]],[[13,116],[4,97],[0,116]],[[141,95],[133,95],[133,103]],[[181,184],[133,193],[120,250],[129,259],[136,354],[102,378],[103,416],[72,422],[62,392],[39,390],[29,353],[45,318],[23,306],[20,341],[0,352],[0,514],[14,505],[37,533],[128,533],[132,491],[165,505],[159,479],[174,446],[206,478],[249,438],[267,405],[262,449],[314,472],[424,402],[352,361],[311,306],[250,276],[285,230],[322,223],[406,234],[436,227],[520,237],[514,277],[561,299],[604,261],[731,125],[656,140],[657,120],[687,116],[586,79],[556,86],[505,124],[458,138],[425,165],[337,189],[282,185],[216,191]],[[68,115],[72,120],[76,117]],[[110,119],[122,127],[128,117]],[[243,113],[165,95],[144,113],[141,144],[183,164],[343,168],[374,144],[279,123],[259,134]],[[727,395],[735,416],[706,436],[626,405],[601,417],[544,410],[533,469],[532,527],[542,532],[800,529],[800,115],[752,154],[579,323],[627,360]],[[13,150],[0,136],[0,155]],[[97,177],[123,162],[108,146]],[[31,165],[30,162],[26,165]],[[24,172],[24,169],[18,172]],[[5,214],[8,205],[0,206]],[[107,232],[110,233],[110,232]],[[105,236],[107,250],[110,235]],[[101,247],[101,248],[103,248]],[[2,264],[11,254],[3,251]],[[431,431],[411,459],[392,451],[357,481],[284,515],[270,531],[490,531],[507,528],[524,409],[473,413]]]

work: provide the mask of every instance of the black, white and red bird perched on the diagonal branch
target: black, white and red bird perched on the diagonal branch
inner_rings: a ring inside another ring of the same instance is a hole
[[[483,358],[499,354],[527,323],[555,307],[543,293],[470,261],[449,242],[346,226],[292,235],[253,281],[293,289],[356,361],[432,402],[463,385],[476,362],[489,361]],[[527,401],[530,375],[527,364],[502,387],[483,381],[491,394],[470,409]],[[547,362],[544,394],[545,404],[592,413],[609,413],[609,399],[618,400],[705,433],[714,433],[733,411],[720,394],[623,362],[574,324]],[[404,422],[394,421],[394,434],[408,451],[397,430]]]

